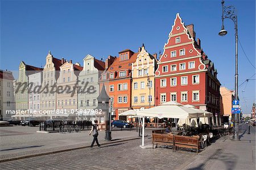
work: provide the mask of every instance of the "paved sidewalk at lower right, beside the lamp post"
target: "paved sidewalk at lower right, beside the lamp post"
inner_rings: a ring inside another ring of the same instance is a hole
[[[220,138],[206,150],[188,160],[177,169],[246,169],[255,170],[255,126],[242,125],[240,141],[232,136]]]

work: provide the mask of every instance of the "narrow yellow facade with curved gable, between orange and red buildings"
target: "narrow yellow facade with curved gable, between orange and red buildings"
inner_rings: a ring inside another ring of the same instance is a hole
[[[144,47],[139,48],[139,54],[132,63],[131,107],[133,109],[155,106],[156,54],[150,55]]]

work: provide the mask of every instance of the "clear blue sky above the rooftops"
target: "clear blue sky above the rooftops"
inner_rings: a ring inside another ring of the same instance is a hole
[[[238,35],[255,67],[255,1],[225,1],[238,11]],[[89,53],[98,59],[145,44],[150,53],[163,52],[168,33],[180,13],[193,23],[196,37],[218,71],[222,86],[234,89],[235,38],[232,20],[221,28],[218,1],[1,1],[1,69],[17,71],[20,61],[41,67],[49,50],[53,56],[82,63]],[[255,69],[238,44],[242,110],[255,101]],[[251,77],[253,76],[253,77]]]

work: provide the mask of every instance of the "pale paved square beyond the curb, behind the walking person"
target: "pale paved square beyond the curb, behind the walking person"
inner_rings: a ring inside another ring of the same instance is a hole
[[[28,126],[1,127],[0,160],[89,146],[93,138],[89,136],[89,130],[78,133],[60,134],[56,132],[42,134],[36,132],[38,128]],[[151,131],[148,131],[148,133],[151,134]],[[105,131],[99,131],[99,134],[99,141],[105,142]],[[138,132],[136,132],[136,129],[118,131],[118,128],[115,128],[112,131],[112,137],[114,140],[137,138]]]

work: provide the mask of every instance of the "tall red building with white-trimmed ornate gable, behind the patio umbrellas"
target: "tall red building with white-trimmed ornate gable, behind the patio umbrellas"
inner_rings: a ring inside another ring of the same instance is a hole
[[[156,105],[177,101],[219,117],[221,84],[214,64],[201,49],[200,39],[195,40],[193,24],[185,26],[177,14],[168,36],[155,72]]]

